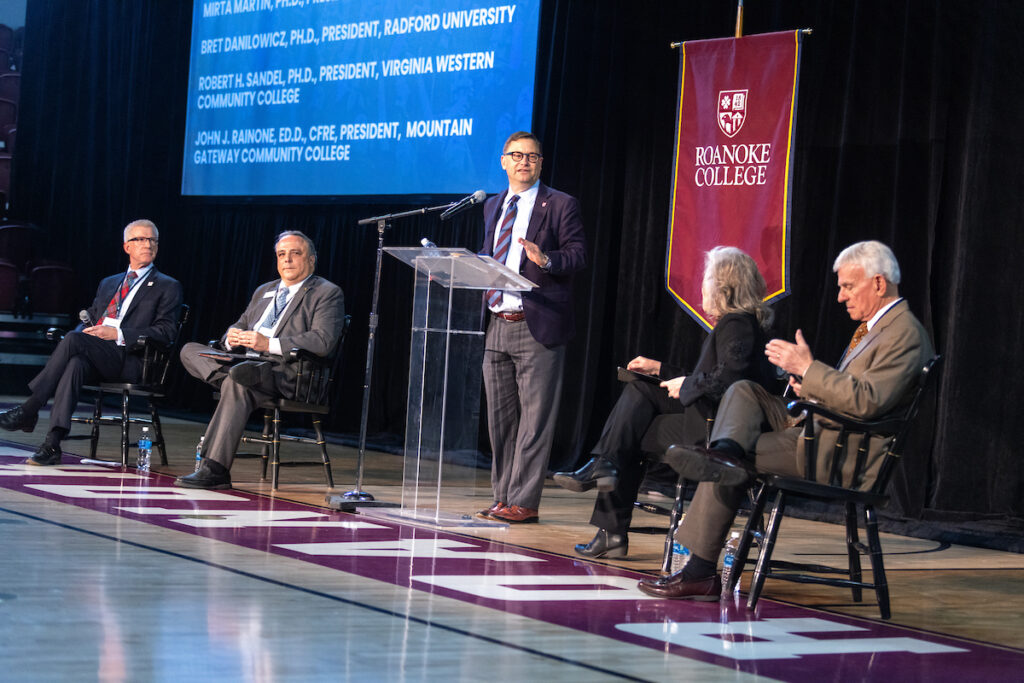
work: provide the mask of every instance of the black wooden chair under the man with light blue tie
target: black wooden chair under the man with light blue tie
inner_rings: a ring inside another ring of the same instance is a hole
[[[331,459],[327,453],[327,440],[321,426],[321,416],[331,412],[331,386],[338,372],[341,360],[342,345],[352,316],[346,315],[341,336],[331,356],[323,357],[299,348],[293,348],[284,362],[296,364],[295,390],[289,396],[278,396],[263,401],[259,409],[263,411],[263,431],[259,436],[242,437],[243,443],[257,443],[261,446],[259,453],[237,453],[236,458],[260,458],[263,467],[261,480],[266,480],[267,464],[270,465],[270,485],[278,490],[282,467],[323,467],[324,477],[329,488],[334,487],[334,474],[331,471]],[[214,396],[219,399],[219,393]],[[312,421],[314,438],[281,433],[281,414],[296,413],[308,415]],[[319,449],[321,459],[316,460],[281,460],[281,442],[291,441],[307,443]]]

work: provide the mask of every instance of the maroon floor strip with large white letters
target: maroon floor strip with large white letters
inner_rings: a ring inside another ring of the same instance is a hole
[[[1024,652],[762,600],[656,600],[637,572],[239,490],[177,488],[162,474],[24,465],[0,443],[0,487],[311,562],[779,680],[1004,680]]]

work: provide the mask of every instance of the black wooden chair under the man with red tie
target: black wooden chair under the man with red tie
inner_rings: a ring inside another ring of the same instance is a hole
[[[121,464],[127,465],[130,425],[151,425],[154,432],[153,444],[160,451],[160,464],[167,465],[167,447],[164,443],[164,432],[160,426],[160,412],[157,410],[157,402],[167,395],[167,371],[170,369],[171,358],[175,355],[178,342],[181,340],[181,329],[188,322],[188,306],[182,304],[177,332],[174,335],[174,341],[170,344],[160,344],[145,337],[140,337],[135,341],[133,348],[142,353],[142,375],[138,382],[100,382],[82,387],[96,394],[92,416],[74,416],[71,421],[92,425],[92,430],[89,434],[78,434],[66,438],[88,438],[89,457],[95,459],[96,444],[99,441],[99,428],[118,425],[121,427]],[[108,393],[121,394],[121,415],[103,415],[103,394]],[[146,400],[148,417],[132,417],[129,410],[129,399],[132,396]]]

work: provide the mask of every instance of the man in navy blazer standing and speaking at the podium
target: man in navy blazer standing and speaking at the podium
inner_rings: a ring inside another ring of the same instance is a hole
[[[484,294],[483,389],[494,505],[477,513],[536,522],[572,338],[572,274],[587,262],[580,203],[540,181],[541,141],[509,136],[500,157],[509,188],[483,205],[482,253],[538,285]]]

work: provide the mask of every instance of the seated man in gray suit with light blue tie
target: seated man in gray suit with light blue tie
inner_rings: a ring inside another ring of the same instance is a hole
[[[256,288],[221,344],[232,351],[252,349],[272,356],[293,348],[330,355],[345,318],[341,289],[313,274],[316,249],[302,232],[282,232],[274,252],[281,280]],[[175,481],[186,488],[230,488],[231,462],[249,416],[260,402],[287,394],[295,386],[295,371],[288,364],[245,361],[228,366],[203,355],[209,352],[208,346],[195,342],[181,349],[185,370],[220,389],[220,402],[206,428],[203,464]]]

